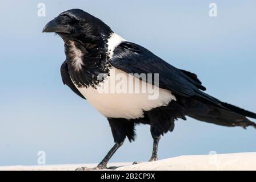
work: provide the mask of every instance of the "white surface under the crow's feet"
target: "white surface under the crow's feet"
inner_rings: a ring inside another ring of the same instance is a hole
[[[81,166],[95,167],[96,164],[2,166],[0,170],[74,170]],[[150,163],[110,163],[108,166],[124,166],[116,170],[256,170],[256,152],[178,156]]]

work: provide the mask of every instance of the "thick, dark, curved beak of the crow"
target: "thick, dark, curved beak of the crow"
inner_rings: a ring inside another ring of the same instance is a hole
[[[65,26],[58,24],[55,19],[51,20],[46,24],[45,28],[43,28],[43,32],[55,32],[55,33],[66,33],[70,34],[72,28],[70,26]]]

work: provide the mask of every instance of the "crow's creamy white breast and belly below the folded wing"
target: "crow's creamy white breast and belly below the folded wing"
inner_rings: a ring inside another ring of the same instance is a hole
[[[112,67],[110,69],[110,76],[106,77],[105,81],[101,82],[96,88],[91,86],[88,88],[77,87],[86,100],[107,118],[141,118],[143,117],[143,111],[148,111],[159,106],[166,106],[171,100],[176,100],[175,96],[169,90],[161,88],[158,88],[158,97],[153,100],[149,99],[150,93],[145,93],[142,89],[139,93],[117,93],[118,90],[110,93],[111,85],[115,85],[115,88],[118,87],[117,84],[119,81],[115,78],[120,73],[128,76],[126,72]],[[133,78],[135,80],[133,82],[133,88],[138,88],[138,86],[142,88],[142,84],[151,86],[146,82],[143,83],[138,78]],[[111,81],[114,81],[115,84],[113,82],[111,84]],[[127,87],[129,87],[128,83]],[[109,88],[109,92],[102,92],[102,88]]]

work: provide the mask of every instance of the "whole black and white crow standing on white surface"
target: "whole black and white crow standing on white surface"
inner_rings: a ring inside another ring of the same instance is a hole
[[[61,66],[63,83],[86,99],[109,121],[114,146],[93,169],[107,168],[107,162],[127,137],[135,139],[135,125],[150,125],[153,152],[149,161],[157,160],[161,135],[173,131],[174,121],[186,116],[222,126],[253,126],[246,117],[256,114],[219,101],[206,94],[194,73],[166,63],[152,52],[115,34],[100,19],[83,10],[72,9],[54,18],[43,32],[55,32],[65,42],[66,60]],[[137,73],[135,75],[131,75]],[[141,79],[142,73],[157,73],[153,81]],[[133,86],[155,86],[158,97],[149,93],[106,93],[101,88],[115,81],[118,74],[131,76]],[[101,79],[99,79],[101,77]],[[137,84],[137,85],[136,85]],[[82,167],[79,169],[88,169]]]

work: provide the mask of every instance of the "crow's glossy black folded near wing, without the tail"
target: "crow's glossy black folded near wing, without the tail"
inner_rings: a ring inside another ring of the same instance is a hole
[[[203,93],[206,90],[197,75],[177,69],[152,52],[131,42],[122,42],[114,49],[110,64],[127,73],[158,73],[159,88],[183,97],[197,97],[223,107],[219,101]],[[153,81],[154,84],[154,81]]]

